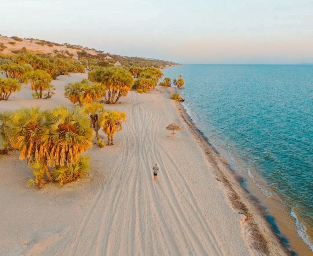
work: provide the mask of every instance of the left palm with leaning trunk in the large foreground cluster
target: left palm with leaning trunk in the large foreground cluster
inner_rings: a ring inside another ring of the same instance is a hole
[[[38,188],[46,183],[44,173],[49,181],[52,176],[49,172],[48,148],[43,145],[43,137],[47,131],[49,111],[40,110],[40,107],[22,108],[13,112],[8,120],[6,133],[10,145],[14,150],[20,150],[20,160],[27,159],[27,164],[40,163],[41,171],[35,170],[35,179],[30,179],[28,185],[36,183]]]

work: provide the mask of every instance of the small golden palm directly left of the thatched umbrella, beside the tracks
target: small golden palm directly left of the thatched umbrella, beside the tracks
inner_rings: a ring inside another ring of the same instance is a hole
[[[122,124],[126,123],[126,113],[118,111],[106,111],[101,113],[99,124],[102,131],[108,137],[108,145],[114,144],[114,134],[122,130]]]

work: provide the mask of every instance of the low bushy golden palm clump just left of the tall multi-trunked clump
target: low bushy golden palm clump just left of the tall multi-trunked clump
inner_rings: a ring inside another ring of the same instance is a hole
[[[78,103],[80,106],[86,103],[92,103],[94,100],[100,100],[105,93],[101,83],[91,84],[87,79],[78,83],[70,83],[65,86],[65,97],[72,103]]]

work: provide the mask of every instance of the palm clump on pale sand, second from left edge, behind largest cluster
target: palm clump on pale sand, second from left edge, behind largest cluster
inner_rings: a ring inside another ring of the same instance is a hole
[[[26,73],[23,77],[24,83],[30,81],[30,89],[34,90],[33,97],[35,99],[50,99],[54,95],[54,86],[50,84],[52,76],[46,71],[37,69]],[[44,91],[48,91],[44,93]]]

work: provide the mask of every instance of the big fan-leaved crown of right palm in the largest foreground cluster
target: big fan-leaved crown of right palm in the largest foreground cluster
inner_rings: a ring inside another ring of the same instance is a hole
[[[93,128],[82,107],[71,111],[68,107],[57,107],[51,112],[48,130],[43,138],[50,148],[49,165],[70,166],[77,163],[80,154],[91,146]]]

